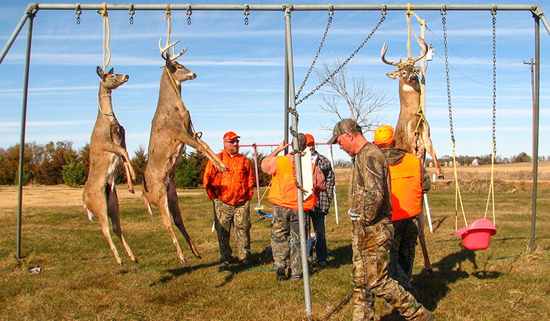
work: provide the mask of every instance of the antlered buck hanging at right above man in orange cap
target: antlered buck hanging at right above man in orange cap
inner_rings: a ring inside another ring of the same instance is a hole
[[[434,159],[437,176],[443,178],[443,170],[441,170],[441,165],[437,161],[436,151],[431,143],[430,126],[420,106],[420,68],[414,66],[416,61],[426,56],[428,46],[424,39],[419,41],[418,37],[415,36],[415,38],[422,50],[421,54],[418,58],[406,61],[405,63],[401,63],[401,58],[399,59],[399,63],[386,61],[385,56],[388,47],[386,43],[382,47],[382,61],[390,66],[397,66],[399,68],[397,71],[386,73],[389,78],[399,78],[401,111],[399,112],[399,119],[395,127],[396,147],[418,156],[423,165],[426,160],[427,151],[431,155],[431,158]]]

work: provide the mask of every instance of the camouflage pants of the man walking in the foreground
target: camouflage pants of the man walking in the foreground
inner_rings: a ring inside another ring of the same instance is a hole
[[[388,275],[393,234],[391,220],[384,219],[367,227],[359,221],[352,221],[352,231],[354,321],[374,320],[375,295],[383,297],[406,320],[420,320],[429,313],[411,293]]]

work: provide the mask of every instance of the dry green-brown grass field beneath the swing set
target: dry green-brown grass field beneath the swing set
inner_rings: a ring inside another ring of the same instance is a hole
[[[466,250],[454,236],[452,182],[436,182],[430,191],[434,233],[426,228],[426,243],[434,272],[424,270],[418,247],[413,284],[436,320],[550,320],[550,188],[544,182],[550,166],[539,166],[536,250],[531,253],[529,166],[497,166],[498,232],[487,250]],[[467,178],[461,189],[469,223],[484,215],[487,168],[459,168],[459,176]],[[445,168],[445,175],[452,178],[452,168]],[[337,170],[336,178],[339,224],[333,208],[326,223],[329,267],[312,265],[310,270],[311,320],[351,320],[352,304],[346,302],[351,293],[349,175]],[[23,258],[17,260],[16,187],[0,186],[0,320],[306,319],[302,282],[277,281],[271,256],[264,253],[269,220],[256,220],[252,214],[254,265],[219,270],[211,202],[202,189],[179,190],[184,223],[202,255],[194,258],[180,234],[189,260],[181,263],[158,210],[150,218],[141,193],[118,188],[124,235],[139,260],[131,263],[115,237],[124,267],[116,265],[99,222],[87,219],[81,188],[66,186],[24,188]],[[269,201],[262,203],[269,211]],[[458,224],[464,227],[461,214]],[[41,272],[31,273],[34,267]],[[376,300],[376,320],[404,320],[382,301]]]

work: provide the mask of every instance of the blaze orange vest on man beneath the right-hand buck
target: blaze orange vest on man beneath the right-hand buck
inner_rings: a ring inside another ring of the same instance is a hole
[[[419,215],[422,210],[422,172],[420,160],[405,153],[401,163],[389,165],[391,177],[391,220]]]

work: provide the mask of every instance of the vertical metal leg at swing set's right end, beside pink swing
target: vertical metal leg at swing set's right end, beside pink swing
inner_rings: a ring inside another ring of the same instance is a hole
[[[540,80],[541,80],[541,57],[540,57],[540,27],[539,16],[533,15],[535,19],[535,96],[533,104],[533,200],[531,212],[531,251],[535,248],[535,226],[536,226],[536,193],[537,180],[539,178],[539,95],[540,95]]]

